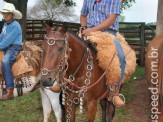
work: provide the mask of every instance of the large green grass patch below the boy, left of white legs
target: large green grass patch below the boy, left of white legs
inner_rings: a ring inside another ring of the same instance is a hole
[[[0,122],[41,122],[42,108],[39,92],[0,102]]]

